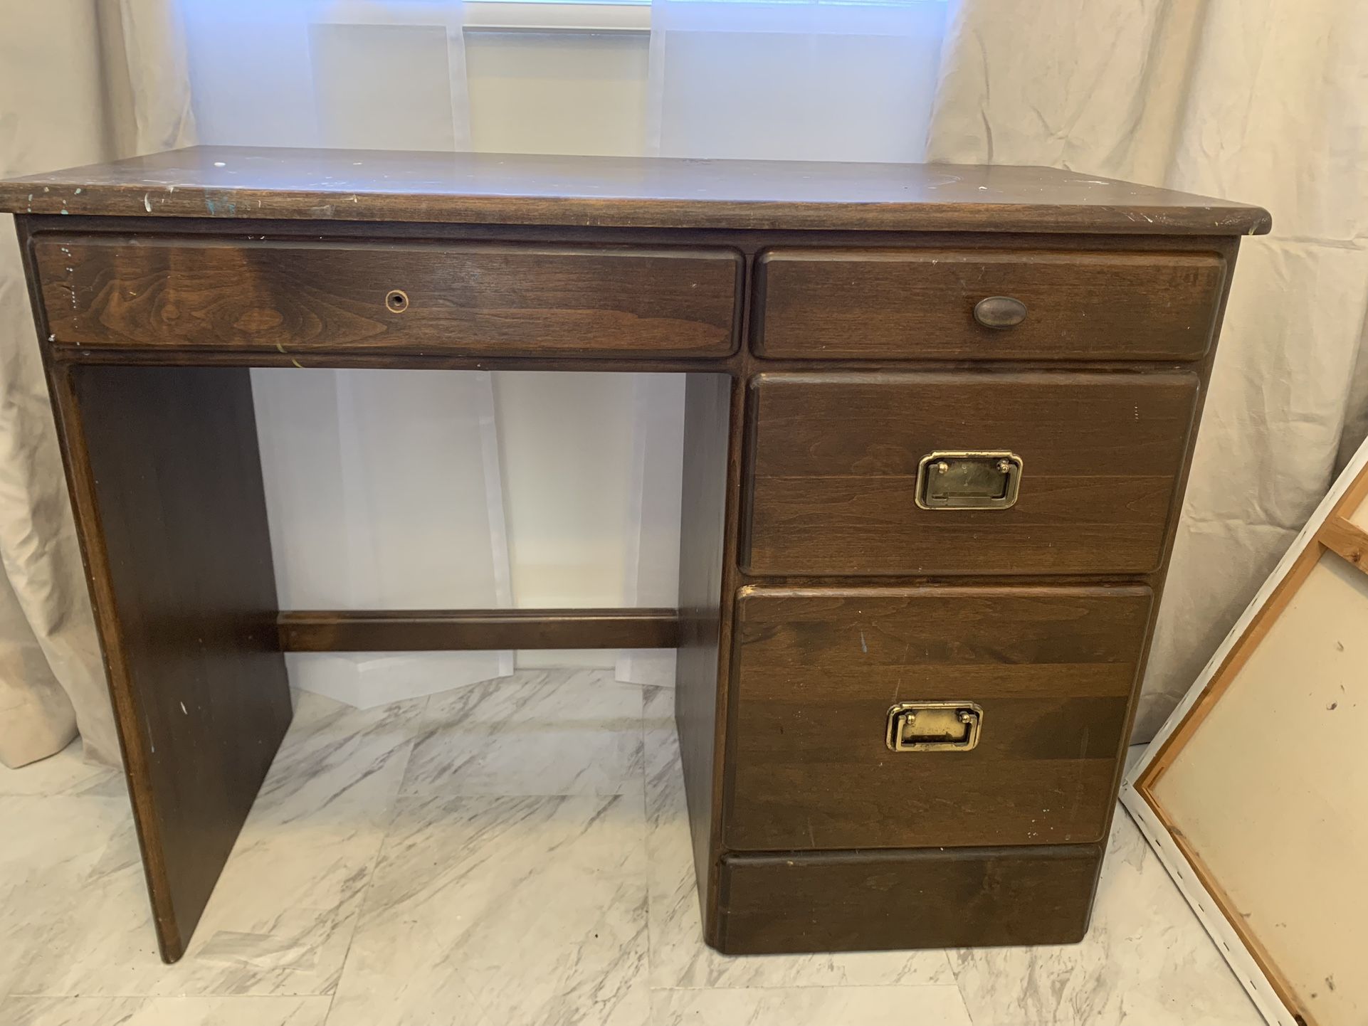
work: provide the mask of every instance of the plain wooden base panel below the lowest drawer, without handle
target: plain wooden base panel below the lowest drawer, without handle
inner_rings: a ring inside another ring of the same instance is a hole
[[[959,848],[728,855],[729,955],[1071,944],[1082,940],[1101,848]]]

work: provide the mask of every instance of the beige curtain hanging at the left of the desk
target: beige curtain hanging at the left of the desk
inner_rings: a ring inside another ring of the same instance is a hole
[[[0,97],[5,176],[185,145],[194,131],[170,0],[0,5]],[[33,332],[19,248],[4,224],[0,762],[45,758],[79,731],[86,758],[116,765],[114,714]]]

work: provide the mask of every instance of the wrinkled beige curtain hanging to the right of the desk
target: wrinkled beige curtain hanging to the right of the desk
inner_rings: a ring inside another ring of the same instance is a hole
[[[1267,207],[1244,241],[1135,724],[1187,691],[1368,428],[1368,5],[963,0],[928,159]],[[1361,358],[1363,357],[1363,358]]]

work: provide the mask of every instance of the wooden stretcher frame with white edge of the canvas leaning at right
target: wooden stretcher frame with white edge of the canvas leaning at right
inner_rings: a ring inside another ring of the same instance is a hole
[[[1219,880],[1174,829],[1155,787],[1183,746],[1220,702],[1230,684],[1328,551],[1368,573],[1368,531],[1350,523],[1368,498],[1368,442],[1354,454],[1286,555],[1212,655],[1196,684],[1122,782],[1120,800],[1140,824],[1174,882],[1216,941],[1263,1016],[1276,1026],[1315,1026],[1270,952],[1238,912]]]

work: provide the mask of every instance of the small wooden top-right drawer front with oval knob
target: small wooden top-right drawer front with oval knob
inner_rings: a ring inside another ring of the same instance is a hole
[[[1215,253],[770,249],[757,269],[754,349],[774,358],[1197,360],[1224,280]],[[993,297],[1015,301],[1011,316],[979,308]],[[979,323],[975,308],[999,326]]]

